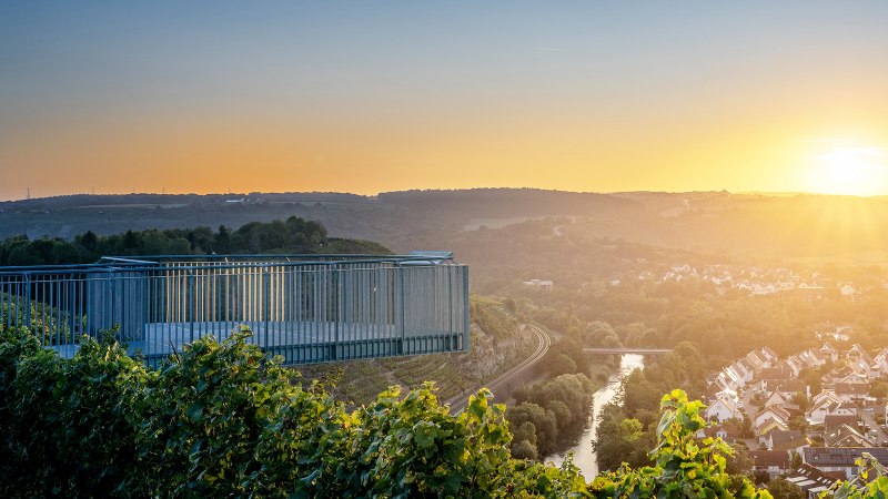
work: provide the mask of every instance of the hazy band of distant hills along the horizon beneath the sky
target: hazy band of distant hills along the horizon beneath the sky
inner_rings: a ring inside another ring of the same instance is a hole
[[[747,257],[885,259],[888,197],[730,194],[613,194],[537,189],[212,195],[59,196],[0,203],[0,238],[72,238],[85,231],[238,227],[297,216],[331,236],[377,241],[395,252],[453,249],[478,228],[565,217],[549,231]],[[497,240],[502,235],[505,240]],[[508,231],[488,244],[515,244]],[[488,246],[490,247],[490,246]],[[458,254],[457,254],[458,256]],[[471,262],[467,262],[471,263]]]

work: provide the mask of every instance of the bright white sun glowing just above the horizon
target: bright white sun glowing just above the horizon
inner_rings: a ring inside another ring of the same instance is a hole
[[[884,147],[835,147],[815,156],[809,175],[811,187],[824,194],[888,194],[888,164]]]

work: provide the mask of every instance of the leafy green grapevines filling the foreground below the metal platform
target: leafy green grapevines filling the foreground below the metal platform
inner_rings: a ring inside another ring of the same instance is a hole
[[[724,442],[694,438],[703,406],[679,390],[663,399],[653,466],[623,466],[589,486],[569,459],[555,468],[512,458],[505,408],[486,389],[458,416],[431,384],[347,411],[264,357],[246,330],[195,342],[160,370],[111,335],[84,339],[72,359],[29,332],[0,335],[4,497],[769,497],[725,471]],[[579,381],[566,376],[564,388]],[[536,428],[515,426],[532,444]],[[640,428],[622,424],[636,442]]]

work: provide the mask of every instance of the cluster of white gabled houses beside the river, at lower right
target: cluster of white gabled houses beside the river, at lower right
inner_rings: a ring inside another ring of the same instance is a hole
[[[865,452],[888,465],[888,348],[868,353],[847,333],[783,359],[758,348],[710,375],[713,425],[698,436],[748,449],[759,478],[784,477],[808,497],[854,478]]]

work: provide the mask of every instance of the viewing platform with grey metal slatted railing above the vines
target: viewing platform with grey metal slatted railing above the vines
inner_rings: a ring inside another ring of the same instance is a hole
[[[468,268],[452,255],[103,258],[0,267],[0,322],[72,356],[117,327],[151,365],[242,326],[286,364],[468,349]]]

